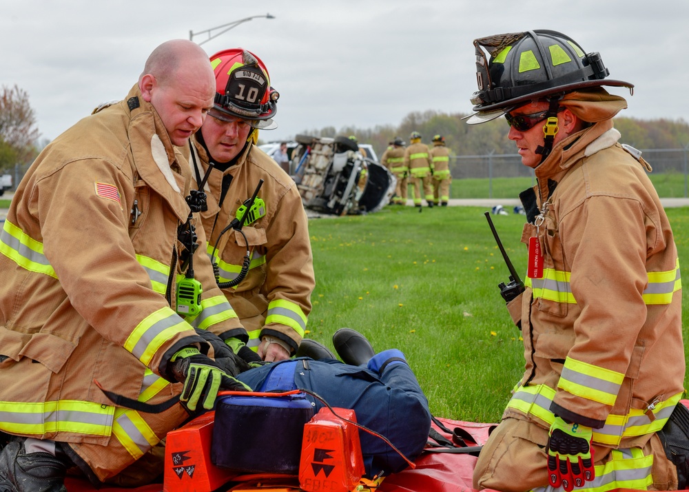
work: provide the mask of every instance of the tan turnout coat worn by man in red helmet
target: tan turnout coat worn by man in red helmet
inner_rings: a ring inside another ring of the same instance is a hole
[[[203,180],[209,156],[203,145],[192,141],[192,177]],[[236,218],[238,208],[253,196],[260,180],[263,185],[258,198],[263,199],[265,210],[258,211],[255,221],[247,221],[242,227],[244,235],[232,228],[223,232]],[[223,183],[227,191],[220,203]],[[207,252],[217,263],[221,283],[238,276],[249,250],[246,278],[223,289],[249,332],[247,345],[256,350],[261,337],[272,336],[294,353],[304,336],[316,285],[308,219],[294,180],[265,152],[248,143],[234,165],[208,174],[205,192],[208,209],[201,216]]]

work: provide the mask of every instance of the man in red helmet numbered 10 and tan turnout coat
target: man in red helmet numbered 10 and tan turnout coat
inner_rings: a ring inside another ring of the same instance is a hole
[[[223,50],[211,63],[215,104],[192,138],[189,156],[196,182],[206,180],[208,207],[200,216],[207,252],[218,267],[225,296],[247,329],[249,347],[268,362],[284,360],[304,336],[315,280],[307,216],[296,184],[255,145],[259,128],[276,127],[278,92],[271,88],[263,61],[247,50]],[[228,229],[261,180],[258,198],[265,207],[240,231]],[[229,285],[247,251],[246,277]],[[245,340],[227,342],[238,351]]]

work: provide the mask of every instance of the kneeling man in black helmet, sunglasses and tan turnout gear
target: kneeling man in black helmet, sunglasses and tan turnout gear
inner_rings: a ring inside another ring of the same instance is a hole
[[[473,486],[668,490],[679,477],[684,489],[686,452],[669,449],[670,441],[689,446],[678,404],[677,249],[650,166],[617,143],[612,119],[627,103],[601,87],[633,86],[607,79],[597,52],[559,32],[474,45],[479,90],[467,123],[504,115],[537,183],[520,194],[526,289],[507,304],[522,329],[526,371]]]

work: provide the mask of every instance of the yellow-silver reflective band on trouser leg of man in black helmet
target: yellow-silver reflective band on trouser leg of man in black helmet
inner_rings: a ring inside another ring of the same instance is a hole
[[[644,456],[639,448],[613,449],[605,464],[595,465],[595,478],[577,487],[577,491],[605,492],[614,489],[646,490],[653,484],[653,455]],[[559,491],[538,487],[534,492]]]

